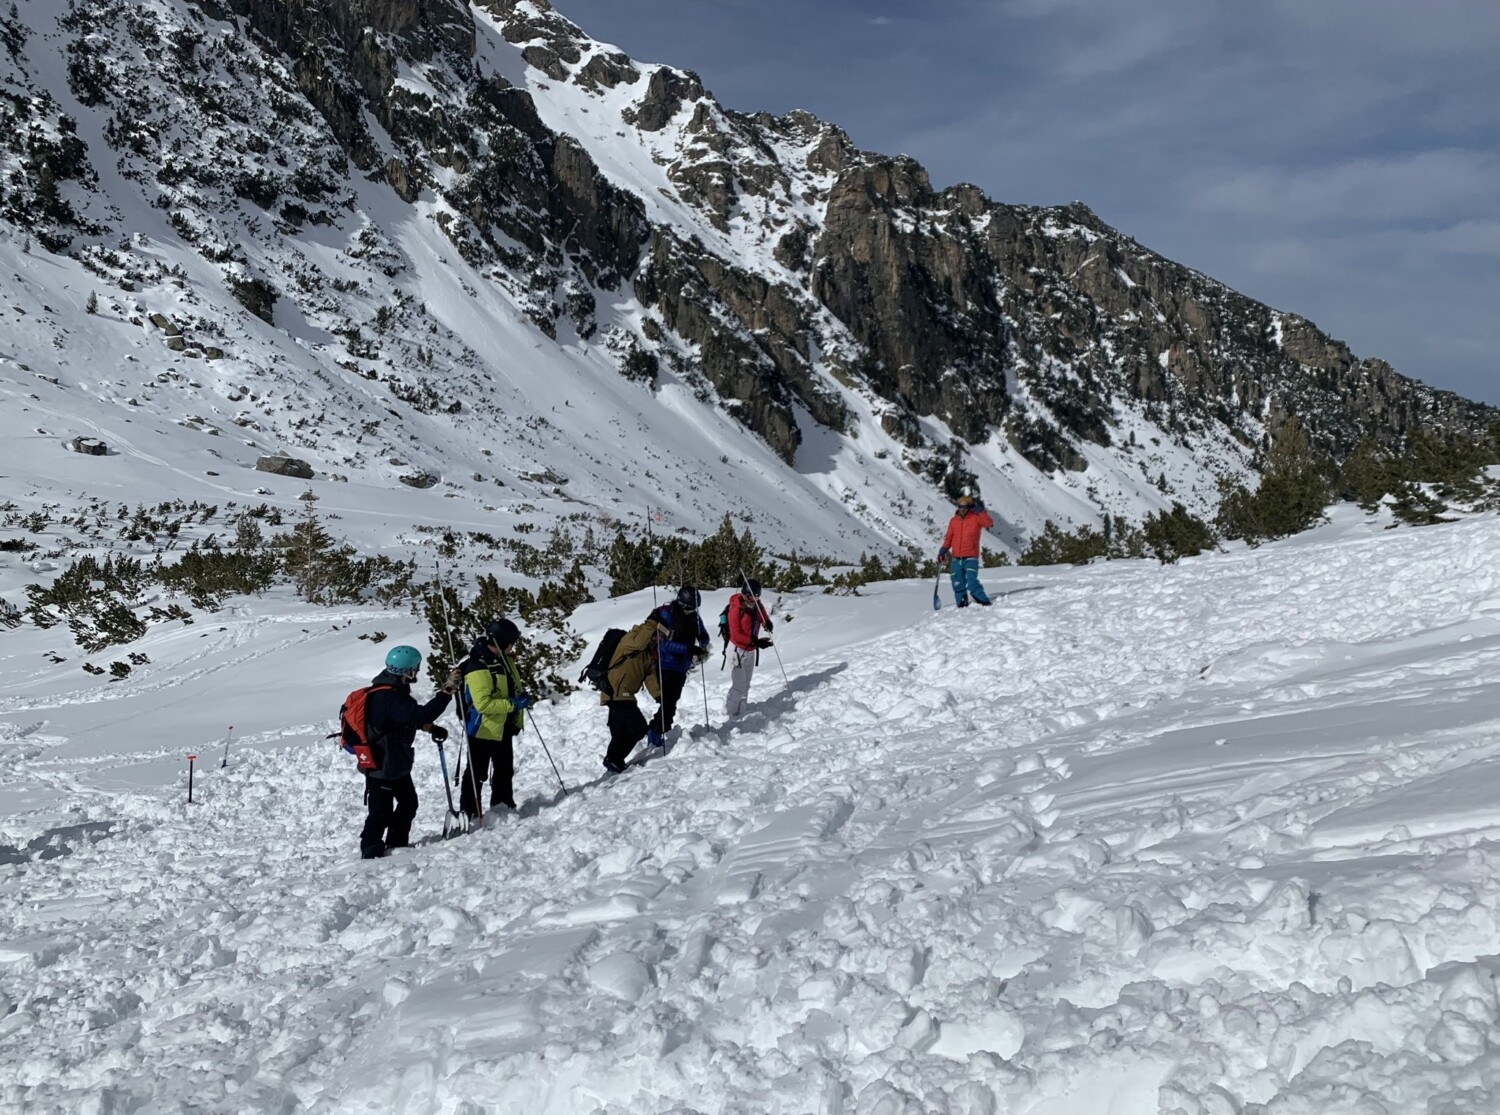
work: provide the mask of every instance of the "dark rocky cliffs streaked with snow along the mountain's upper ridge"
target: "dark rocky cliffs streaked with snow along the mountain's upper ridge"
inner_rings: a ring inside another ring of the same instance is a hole
[[[1203,504],[1290,416],[1334,455],[1494,417],[1080,204],[936,191],[808,114],[732,113],[546,0],[74,0],[52,32],[64,74],[28,60],[34,20],[0,17],[4,218],[130,287],[162,278],[130,237],[144,203],[248,311],[322,323],[340,368],[384,360],[408,401],[492,374],[430,339],[394,231],[416,219],[546,338],[687,386],[804,471],[808,437],[864,438],[950,489],[1029,468],[1118,509],[1098,473],[1149,477],[1149,440],[1198,465],[1162,468],[1160,497]],[[388,290],[330,284],[320,228]]]

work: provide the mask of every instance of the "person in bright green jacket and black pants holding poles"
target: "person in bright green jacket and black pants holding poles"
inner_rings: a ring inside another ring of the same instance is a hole
[[[522,692],[512,659],[520,630],[510,620],[495,620],[474,644],[464,671],[464,731],[470,744],[470,773],[464,776],[459,807],[478,813],[478,788],[489,782],[489,807],[516,807],[516,755],[513,740],[525,726],[534,701]]]

